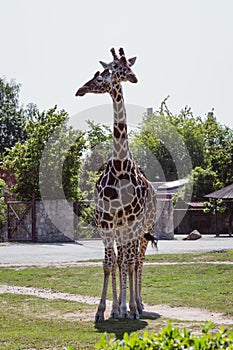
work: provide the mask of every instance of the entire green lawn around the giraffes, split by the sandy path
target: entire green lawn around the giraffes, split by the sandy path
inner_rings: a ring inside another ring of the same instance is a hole
[[[203,307],[233,318],[233,268],[227,264],[233,261],[233,251],[153,255],[147,256],[146,260],[177,264],[144,266],[145,303]],[[215,261],[226,261],[226,264],[205,264]],[[98,297],[102,280],[102,267],[0,268],[0,284],[51,288]],[[110,293],[108,298],[111,298]],[[137,331],[139,334],[145,330],[156,332],[169,321],[163,318],[134,322],[108,320],[94,325],[85,317],[82,321],[77,317],[78,312],[94,318],[95,310],[96,305],[0,294],[0,349],[63,349],[68,345],[75,349],[93,349],[102,332],[108,332],[110,337],[122,338],[125,331]],[[185,324],[187,326],[189,322]],[[195,327],[199,328],[199,325],[190,322],[190,328]]]

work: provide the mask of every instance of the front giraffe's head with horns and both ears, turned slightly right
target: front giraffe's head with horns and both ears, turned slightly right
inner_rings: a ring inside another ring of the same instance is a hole
[[[117,56],[115,49],[111,49],[113,61],[111,63],[105,63],[100,61],[100,64],[104,69],[109,69],[112,72],[112,79],[120,83],[122,81],[130,81],[131,83],[137,83],[137,77],[131,69],[131,66],[135,63],[136,57],[125,57],[124,50],[120,48],[119,56]]]

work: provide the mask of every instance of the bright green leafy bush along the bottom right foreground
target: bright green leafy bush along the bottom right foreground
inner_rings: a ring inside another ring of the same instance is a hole
[[[158,333],[149,334],[145,332],[143,337],[137,333],[124,334],[123,339],[107,339],[106,333],[96,344],[95,349],[99,350],[123,350],[123,349],[151,349],[151,350],[214,350],[233,349],[233,332],[220,327],[217,332],[211,332],[212,323],[202,327],[201,335],[192,335],[186,328],[180,330],[168,324],[166,328]]]

